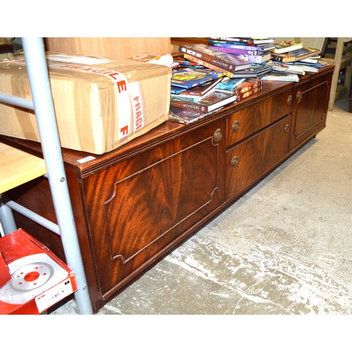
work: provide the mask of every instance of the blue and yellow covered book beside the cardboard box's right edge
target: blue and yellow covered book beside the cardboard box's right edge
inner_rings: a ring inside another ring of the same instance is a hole
[[[210,70],[209,68],[184,68],[182,70],[173,70],[171,85],[190,89],[191,87],[210,82],[224,75],[225,73]]]

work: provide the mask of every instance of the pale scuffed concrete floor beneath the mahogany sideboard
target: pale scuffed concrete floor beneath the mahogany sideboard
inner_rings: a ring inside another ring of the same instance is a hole
[[[97,315],[351,315],[347,111],[336,101],[315,139]]]

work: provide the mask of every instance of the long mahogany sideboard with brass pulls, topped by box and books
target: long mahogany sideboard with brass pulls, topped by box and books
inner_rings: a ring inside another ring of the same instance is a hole
[[[101,156],[63,149],[94,312],[325,127],[333,69],[263,82],[263,91],[213,115],[164,122]],[[0,140],[41,156],[36,142]],[[8,196],[56,222],[45,177]],[[58,235],[15,220],[65,259]]]

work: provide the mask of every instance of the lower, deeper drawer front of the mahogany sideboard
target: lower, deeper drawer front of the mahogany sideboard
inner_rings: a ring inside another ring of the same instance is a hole
[[[287,155],[290,130],[291,115],[287,115],[227,152],[226,199],[251,187]]]

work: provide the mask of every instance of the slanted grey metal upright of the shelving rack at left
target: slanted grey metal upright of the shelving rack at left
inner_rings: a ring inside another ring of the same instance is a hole
[[[49,74],[46,66],[42,38],[23,38],[23,49],[30,79],[34,112],[37,117],[39,136],[51,194],[53,196],[58,227],[68,266],[75,272],[77,291],[75,298],[80,314],[92,314],[86,277],[77,239],[73,210],[68,193],[61,144],[58,137],[54,103],[51,96]]]

